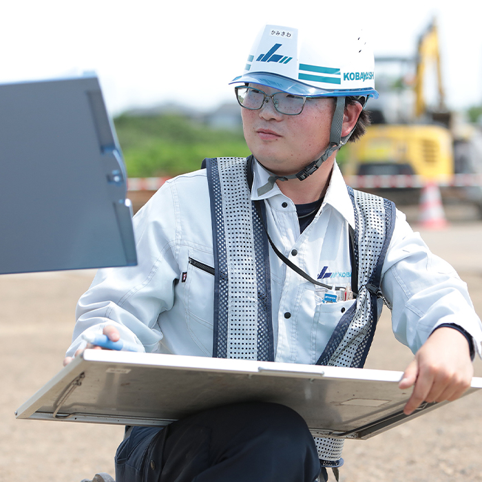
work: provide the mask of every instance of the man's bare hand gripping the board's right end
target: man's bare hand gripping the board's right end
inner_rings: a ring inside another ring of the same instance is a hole
[[[415,384],[404,413],[410,415],[423,401],[453,401],[470,387],[474,367],[467,339],[454,328],[435,330],[415,355],[399,388]]]

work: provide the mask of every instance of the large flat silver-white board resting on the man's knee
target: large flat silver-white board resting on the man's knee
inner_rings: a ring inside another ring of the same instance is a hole
[[[402,372],[85,350],[16,413],[19,419],[165,426],[193,412],[268,401],[298,412],[314,436],[368,439],[448,402],[403,408]],[[482,388],[474,377],[468,395]]]

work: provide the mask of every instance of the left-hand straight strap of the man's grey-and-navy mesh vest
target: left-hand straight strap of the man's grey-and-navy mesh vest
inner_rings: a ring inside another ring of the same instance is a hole
[[[213,357],[274,361],[268,246],[244,158],[209,159],[214,249]]]

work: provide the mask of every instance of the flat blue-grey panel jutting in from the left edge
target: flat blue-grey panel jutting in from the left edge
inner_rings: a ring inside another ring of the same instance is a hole
[[[0,274],[137,263],[96,76],[0,85],[0,205]]]

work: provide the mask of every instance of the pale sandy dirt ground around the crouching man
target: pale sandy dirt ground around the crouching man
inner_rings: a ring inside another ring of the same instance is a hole
[[[468,283],[482,316],[482,222],[422,235]],[[0,482],[80,482],[96,472],[114,474],[122,427],[14,417],[61,369],[76,300],[93,276],[94,271],[0,276]],[[384,313],[367,368],[404,370],[411,357],[395,341]],[[475,368],[481,377],[480,361]],[[368,441],[347,441],[341,480],[482,481],[481,406],[482,393],[476,392]]]

